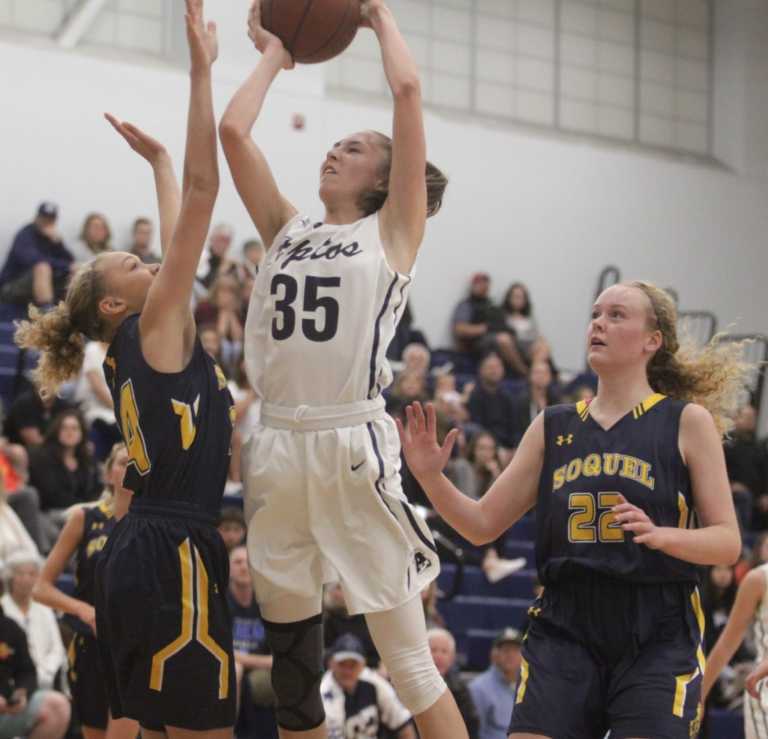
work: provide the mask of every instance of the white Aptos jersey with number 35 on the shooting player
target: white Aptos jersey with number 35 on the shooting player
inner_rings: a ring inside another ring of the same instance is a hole
[[[373,399],[392,381],[387,347],[411,278],[384,256],[379,219],[278,233],[251,294],[245,360],[257,395],[289,407]]]

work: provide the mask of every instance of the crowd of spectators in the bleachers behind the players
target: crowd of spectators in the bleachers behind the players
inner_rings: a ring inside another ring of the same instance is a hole
[[[57,218],[58,208],[42,203],[32,223],[16,234],[0,268],[0,307],[33,303],[45,309],[62,297],[80,263],[111,249],[123,248],[144,262],[160,259],[152,248],[154,224],[148,218],[136,218],[130,238],[122,244],[116,243],[103,214],[89,214],[72,244],[62,238]],[[236,409],[228,502],[219,529],[230,552],[229,602],[241,707],[238,735],[276,737],[271,657],[253,597],[239,497],[240,448],[259,414],[244,370],[244,326],[264,255],[257,239],[249,238],[237,248],[233,229],[226,224],[215,226],[198,269],[193,310],[203,346],[227,376]],[[569,373],[555,363],[553,348],[536,319],[533,297],[520,282],[506,286],[502,299],[495,302],[491,276],[472,275],[466,297],[446,320],[451,321],[453,343],[434,347],[418,328],[411,309],[406,310],[388,352],[395,380],[387,392],[387,409],[402,417],[414,400],[434,402],[439,434],[460,430],[447,475],[464,494],[479,499],[514,456],[532,419],[553,403],[591,398],[594,381],[588,375],[580,375],[577,382],[565,381],[570,380]],[[0,562],[6,594],[0,601],[5,613],[0,614],[0,650],[4,643],[24,641],[27,646],[14,647],[18,658],[13,664],[6,665],[0,652],[0,739],[26,735],[33,726],[48,732],[36,736],[59,737],[69,721],[59,626],[55,614],[32,601],[31,593],[41,558],[50,551],[68,511],[98,498],[103,487],[101,463],[120,437],[101,367],[106,349],[102,343],[88,344],[80,376],[56,397],[40,397],[27,382],[3,399]],[[757,411],[747,404],[724,443],[746,547],[736,567],[702,573],[708,647],[728,618],[740,579],[750,568],[768,561],[768,536],[758,536],[768,529],[768,444],[758,438],[756,429]],[[423,506],[446,559],[481,566],[490,582],[534,566],[525,558],[506,559],[504,538],[483,549],[461,540],[431,513],[429,501],[405,466],[402,474],[406,494]],[[441,593],[436,583],[423,594],[435,663],[457,698],[470,737],[500,739],[506,736],[514,704],[520,665],[518,629],[523,624],[508,624],[492,643],[487,671],[467,680],[461,674],[463,655],[457,653],[455,636],[440,612],[441,598],[450,596]],[[364,618],[347,613],[338,585],[328,588],[324,603],[329,661],[323,699],[331,735],[415,737],[410,715],[386,681]],[[744,673],[739,665],[749,663],[753,654],[747,639],[713,692],[714,704],[738,706]],[[7,675],[15,682],[3,683]],[[8,693],[8,685],[17,686],[15,692]],[[23,710],[11,710],[16,698],[15,705]],[[22,714],[23,721],[17,718]],[[15,734],[8,734],[6,724]]]

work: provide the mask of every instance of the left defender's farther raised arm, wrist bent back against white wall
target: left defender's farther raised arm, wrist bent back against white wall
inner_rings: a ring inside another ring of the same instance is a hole
[[[119,121],[113,115],[105,113],[104,117],[139,156],[149,162],[155,176],[157,191],[157,209],[160,217],[160,249],[163,256],[171,244],[171,237],[179,219],[181,209],[181,192],[173,171],[173,161],[166,148],[149,134],[126,121]]]

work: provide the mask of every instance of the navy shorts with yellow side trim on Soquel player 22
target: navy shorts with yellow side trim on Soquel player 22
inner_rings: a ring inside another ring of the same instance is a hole
[[[584,574],[546,588],[529,615],[512,736],[698,736],[704,615],[693,584]]]

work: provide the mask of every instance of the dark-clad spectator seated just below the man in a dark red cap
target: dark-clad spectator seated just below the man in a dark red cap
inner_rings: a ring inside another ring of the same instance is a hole
[[[502,387],[504,365],[498,354],[488,354],[480,363],[478,382],[469,396],[469,417],[490,431],[503,450],[515,448],[515,399]],[[502,453],[502,457],[504,453]]]

